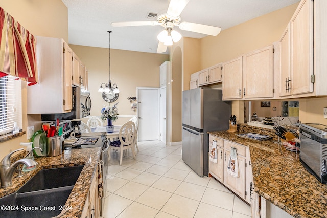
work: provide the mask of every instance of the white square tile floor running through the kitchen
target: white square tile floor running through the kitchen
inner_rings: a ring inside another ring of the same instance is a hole
[[[145,141],[138,148],[136,160],[129,156],[121,166],[111,150],[102,217],[251,217],[247,204],[182,161],[181,145]]]

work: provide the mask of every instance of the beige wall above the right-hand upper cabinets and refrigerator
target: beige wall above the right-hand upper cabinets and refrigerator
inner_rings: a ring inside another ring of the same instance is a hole
[[[271,45],[281,38],[298,3],[201,39],[201,69]]]

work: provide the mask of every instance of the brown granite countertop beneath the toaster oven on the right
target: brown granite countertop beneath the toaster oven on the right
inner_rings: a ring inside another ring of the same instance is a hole
[[[255,141],[227,131],[208,132],[249,147],[254,191],[294,217],[327,217],[327,187],[272,139]]]

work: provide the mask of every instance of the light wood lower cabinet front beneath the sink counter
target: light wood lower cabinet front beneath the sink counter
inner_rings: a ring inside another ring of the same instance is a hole
[[[98,172],[98,170],[96,171]],[[98,194],[98,173],[92,179],[81,217],[100,217],[101,202]]]

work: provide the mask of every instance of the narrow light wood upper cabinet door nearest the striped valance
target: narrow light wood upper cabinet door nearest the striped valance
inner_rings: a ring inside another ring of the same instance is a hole
[[[63,53],[63,62],[64,62],[64,85],[63,85],[63,107],[65,111],[72,110],[72,57],[73,51],[67,43],[64,43],[64,53]],[[58,87],[60,89],[60,87]]]

